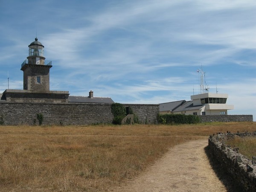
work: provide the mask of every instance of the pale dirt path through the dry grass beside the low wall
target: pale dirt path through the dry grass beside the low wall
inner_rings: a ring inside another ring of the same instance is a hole
[[[209,164],[204,151],[207,145],[207,139],[177,145],[142,175],[114,191],[227,192]]]

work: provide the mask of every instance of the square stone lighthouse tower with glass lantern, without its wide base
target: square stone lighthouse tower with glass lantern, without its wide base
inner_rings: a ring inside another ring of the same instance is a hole
[[[29,56],[21,65],[24,90],[49,90],[52,62],[45,64],[44,46],[35,38],[29,45]]]

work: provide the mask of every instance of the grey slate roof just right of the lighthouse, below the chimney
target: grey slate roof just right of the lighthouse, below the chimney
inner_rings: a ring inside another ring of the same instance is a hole
[[[73,103],[114,103],[110,97],[87,97],[87,96],[69,96],[68,101]]]

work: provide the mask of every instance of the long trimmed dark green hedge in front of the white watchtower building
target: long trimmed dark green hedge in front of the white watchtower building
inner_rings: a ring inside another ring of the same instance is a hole
[[[158,114],[160,124],[194,124],[201,122],[200,116],[181,114]]]

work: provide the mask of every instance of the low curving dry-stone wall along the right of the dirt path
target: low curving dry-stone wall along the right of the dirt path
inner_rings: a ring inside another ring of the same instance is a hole
[[[219,161],[221,167],[229,173],[244,191],[256,191],[256,162],[241,155],[235,148],[225,145],[227,139],[234,137],[256,137],[253,133],[217,134],[209,137],[209,150]]]

